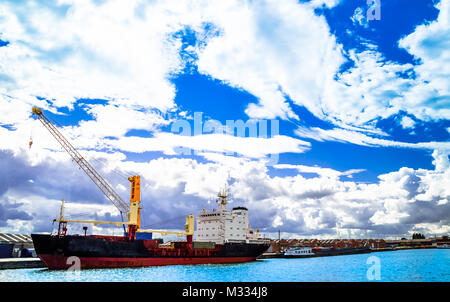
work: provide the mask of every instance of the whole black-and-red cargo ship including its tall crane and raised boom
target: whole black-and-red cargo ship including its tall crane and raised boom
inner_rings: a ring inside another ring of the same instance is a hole
[[[64,199],[58,219],[57,234],[32,234],[37,256],[49,269],[68,269],[78,262],[80,269],[145,267],[176,264],[241,263],[256,260],[269,243],[250,228],[248,210],[244,207],[226,209],[228,191],[222,190],[216,202],[218,210],[202,210],[197,221],[197,238],[193,241],[194,215],[186,218],[184,231],[148,230],[141,228],[140,176],[128,177],[131,183],[130,202],[126,203],[94,167],[70,144],[56,126],[37,107],[33,116],[60,143],[106,198],[119,210],[122,221],[69,220],[64,218]],[[32,141],[30,141],[30,148]],[[124,214],[126,219],[124,219]],[[115,225],[123,227],[124,236],[68,235],[68,223]],[[162,244],[151,239],[153,233],[186,236],[185,241]],[[147,236],[146,236],[147,235]],[[149,238],[150,237],[150,238]]]

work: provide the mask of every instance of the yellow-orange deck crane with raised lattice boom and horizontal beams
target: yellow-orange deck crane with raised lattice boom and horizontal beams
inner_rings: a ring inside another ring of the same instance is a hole
[[[120,214],[126,214],[126,222],[111,222],[111,221],[91,221],[91,220],[67,220],[63,218],[63,206],[61,207],[61,214],[59,219],[55,221],[59,222],[58,235],[61,232],[61,226],[64,227],[68,222],[75,223],[91,223],[93,225],[98,224],[113,224],[116,226],[126,225],[128,226],[128,240],[134,240],[136,238],[136,232],[142,233],[160,233],[162,235],[175,234],[177,236],[188,236],[192,240],[194,233],[194,215],[190,214],[186,217],[186,224],[184,226],[184,232],[173,232],[164,230],[142,230],[141,224],[141,205],[140,205],[140,176],[128,177],[131,182],[131,194],[129,205],[123,201],[119,194],[108,184],[108,182],[92,167],[91,164],[70,144],[70,142],[59,132],[55,125],[44,115],[42,110],[37,107],[32,109],[33,115],[37,116],[37,119],[47,128],[47,130],[53,135],[53,137],[61,144],[64,150],[69,153],[72,159],[80,166],[80,168],[89,176],[89,178],[97,185],[97,187],[103,192],[103,194],[111,201],[114,206],[119,210]],[[64,232],[65,233],[65,232]]]

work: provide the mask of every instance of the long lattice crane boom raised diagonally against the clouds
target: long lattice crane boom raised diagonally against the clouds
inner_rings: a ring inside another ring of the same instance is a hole
[[[64,150],[69,153],[72,159],[80,166],[81,169],[89,176],[89,178],[97,185],[103,194],[116,206],[121,213],[128,213],[130,207],[117,194],[114,189],[103,179],[103,177],[89,164],[89,162],[81,156],[81,154],[69,143],[69,141],[58,131],[55,125],[44,115],[42,110],[33,107],[33,114],[37,116],[39,121],[47,128],[53,137],[61,144]]]

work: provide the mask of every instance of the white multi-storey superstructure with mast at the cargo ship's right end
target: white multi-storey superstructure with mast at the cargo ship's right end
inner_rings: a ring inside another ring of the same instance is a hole
[[[253,230],[249,225],[247,208],[236,207],[228,211],[226,189],[219,192],[218,197],[218,210],[200,211],[197,217],[196,241],[223,244],[230,241],[261,240],[258,229]]]

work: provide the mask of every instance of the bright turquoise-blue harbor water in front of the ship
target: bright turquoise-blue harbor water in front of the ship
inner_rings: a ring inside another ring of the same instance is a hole
[[[0,281],[143,282],[448,282],[450,249],[387,251],[226,265],[50,271],[0,271]]]

